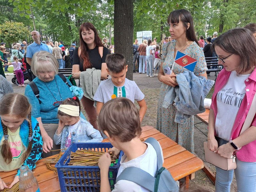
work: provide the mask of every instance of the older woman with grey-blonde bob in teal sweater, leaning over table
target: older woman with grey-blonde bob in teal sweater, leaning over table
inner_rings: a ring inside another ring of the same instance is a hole
[[[68,85],[57,75],[58,69],[59,62],[51,53],[36,52],[31,60],[31,70],[36,76],[33,82],[38,88],[39,98],[36,98],[31,88],[33,85],[28,84],[25,89],[25,95],[32,106],[31,115],[39,122],[43,139],[43,158],[59,153],[50,152],[52,149],[60,149],[60,145],[53,142],[59,124],[58,107],[63,100],[73,97]],[[72,86],[67,78],[66,80]]]

